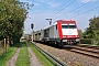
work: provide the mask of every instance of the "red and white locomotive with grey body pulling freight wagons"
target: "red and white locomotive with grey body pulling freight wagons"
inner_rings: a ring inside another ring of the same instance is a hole
[[[54,24],[33,33],[33,41],[47,42],[59,47],[79,43],[76,21],[58,20]]]

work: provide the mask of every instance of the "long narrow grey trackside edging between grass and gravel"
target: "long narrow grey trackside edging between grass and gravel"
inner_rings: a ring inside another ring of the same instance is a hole
[[[35,44],[33,44],[34,47],[36,47],[41,53],[43,53],[46,57],[48,57],[50,59],[52,59],[57,66],[67,66],[65,63],[63,63],[62,61],[57,59],[55,56],[51,55],[50,53],[43,51],[42,48],[40,48],[38,46],[36,46]]]

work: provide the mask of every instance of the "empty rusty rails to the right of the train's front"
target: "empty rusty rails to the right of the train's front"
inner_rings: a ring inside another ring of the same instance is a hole
[[[95,47],[84,47],[84,46],[72,46],[70,52],[79,53],[82,55],[88,55],[90,57],[99,58],[99,48]]]

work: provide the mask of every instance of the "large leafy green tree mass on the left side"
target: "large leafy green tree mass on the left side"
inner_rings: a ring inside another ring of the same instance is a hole
[[[29,8],[28,2],[0,0],[0,40],[20,41]]]

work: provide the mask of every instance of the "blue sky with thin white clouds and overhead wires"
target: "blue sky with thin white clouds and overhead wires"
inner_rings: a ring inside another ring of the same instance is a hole
[[[89,20],[99,15],[99,0],[21,0],[34,4],[24,22],[24,33],[31,34],[33,30],[38,31],[57,20],[75,20],[82,32],[89,26]]]

